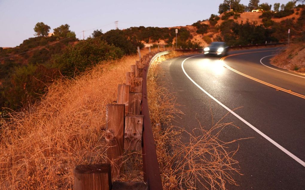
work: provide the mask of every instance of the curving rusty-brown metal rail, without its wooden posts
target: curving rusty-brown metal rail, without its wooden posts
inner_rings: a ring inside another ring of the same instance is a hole
[[[153,138],[151,120],[149,116],[148,100],[147,100],[147,73],[151,63],[162,55],[169,54],[170,51],[164,51],[156,54],[149,60],[149,64],[143,71],[143,86],[142,86],[142,115],[143,115],[143,171],[144,181],[147,182],[149,190],[162,190],[162,181],[160,176],[159,164],[156,153],[155,140]]]

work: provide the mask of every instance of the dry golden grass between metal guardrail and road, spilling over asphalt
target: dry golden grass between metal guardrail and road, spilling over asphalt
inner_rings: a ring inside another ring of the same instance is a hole
[[[212,127],[199,125],[192,132],[171,126],[170,121],[182,113],[177,109],[174,94],[157,82],[158,74],[162,74],[159,64],[164,59],[152,64],[148,76],[149,109],[163,188],[226,189],[227,183],[237,185],[232,175],[240,174],[234,159],[238,148],[231,150],[228,146],[237,140],[219,139],[224,128],[236,126],[221,120]],[[181,141],[182,135],[189,141]]]

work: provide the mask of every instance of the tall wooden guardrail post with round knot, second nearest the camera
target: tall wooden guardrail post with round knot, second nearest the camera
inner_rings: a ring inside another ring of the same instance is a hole
[[[123,154],[124,148],[124,104],[106,105],[106,131],[105,140],[107,142],[108,163],[113,164],[113,174],[120,170],[121,161],[118,159]]]

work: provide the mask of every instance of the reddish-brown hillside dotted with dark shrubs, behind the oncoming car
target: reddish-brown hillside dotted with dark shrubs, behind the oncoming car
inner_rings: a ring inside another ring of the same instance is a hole
[[[298,41],[305,30],[304,15],[304,5],[299,5],[295,9],[279,12],[224,12],[187,26],[169,28],[140,26],[124,31],[127,36],[136,36],[146,45],[172,46],[176,42],[174,30],[178,29],[178,47],[182,48],[204,47],[212,41],[226,41],[229,45],[259,44],[265,41],[286,42],[288,29],[291,29],[290,40]],[[252,30],[249,29],[247,34],[241,34],[240,30],[245,24],[252,27]],[[136,29],[137,32],[135,32]],[[240,40],[251,36],[250,33],[256,29],[263,33],[263,36],[260,35],[257,39],[252,37],[253,39]]]

